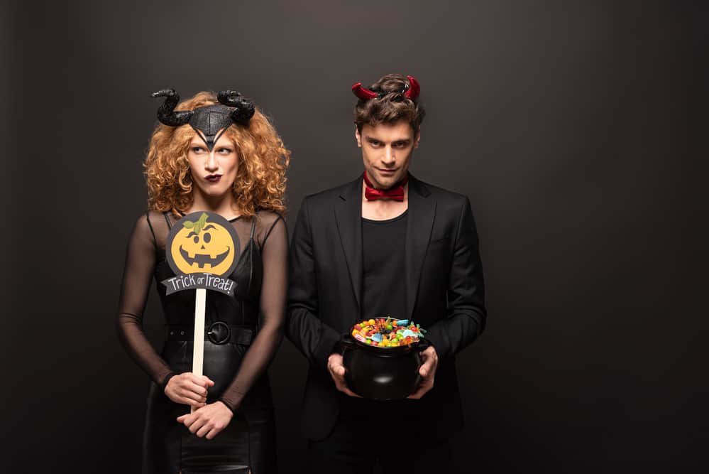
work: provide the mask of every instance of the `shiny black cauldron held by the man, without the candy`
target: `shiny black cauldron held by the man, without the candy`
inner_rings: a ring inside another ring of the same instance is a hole
[[[343,365],[348,387],[364,398],[375,400],[404,399],[416,391],[421,376],[421,355],[429,347],[426,339],[416,343],[383,348],[368,345],[351,335],[343,335]]]

